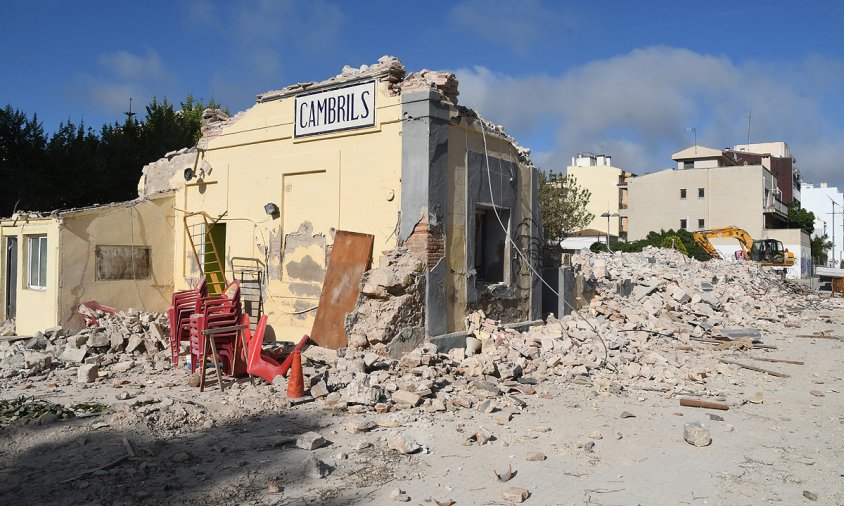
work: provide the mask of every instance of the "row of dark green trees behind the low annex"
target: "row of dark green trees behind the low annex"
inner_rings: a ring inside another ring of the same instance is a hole
[[[106,124],[99,132],[68,120],[49,136],[35,113],[0,109],[0,216],[137,197],[143,166],[195,145],[202,111],[219,107],[190,95],[180,105],[176,110],[166,98],[153,98],[140,120]]]

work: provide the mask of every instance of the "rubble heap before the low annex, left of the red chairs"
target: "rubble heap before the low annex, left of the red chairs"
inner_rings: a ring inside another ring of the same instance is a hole
[[[78,369],[78,381],[90,383],[103,371],[125,372],[146,366],[170,368],[167,315],[129,309],[111,314],[80,306],[91,326],[73,335],[62,327],[32,337],[0,341],[0,375],[50,375],[57,367]]]

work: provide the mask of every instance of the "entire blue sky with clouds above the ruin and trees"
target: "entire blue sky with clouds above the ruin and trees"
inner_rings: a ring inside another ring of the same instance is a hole
[[[698,143],[787,141],[844,188],[844,2],[5,0],[0,102],[99,128],[153,96],[255,95],[384,54],[451,70],[460,103],[543,169],[603,152],[635,172]]]

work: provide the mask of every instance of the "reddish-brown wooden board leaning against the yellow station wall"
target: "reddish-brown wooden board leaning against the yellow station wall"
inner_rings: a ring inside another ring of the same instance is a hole
[[[336,350],[349,344],[346,313],[351,312],[360,295],[363,273],[372,263],[375,236],[338,230],[319,296],[311,340],[323,348]]]

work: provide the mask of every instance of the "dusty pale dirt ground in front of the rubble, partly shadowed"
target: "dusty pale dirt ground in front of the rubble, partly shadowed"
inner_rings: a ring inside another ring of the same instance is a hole
[[[409,504],[492,505],[510,504],[502,492],[521,487],[530,492],[526,504],[844,504],[844,342],[798,337],[841,336],[842,323],[844,310],[807,312],[800,328],[764,336],[775,350],[689,350],[666,341],[678,359],[714,355],[790,375],[713,373],[708,391],[719,395],[707,399],[720,398],[728,411],[681,407],[684,395],[558,380],[519,396],[525,405],[514,405],[509,421],[451,406],[384,414],[322,401],[290,406],[284,386],[248,380],[200,393],[184,368],[136,368],[87,385],[75,382],[75,369],[30,383],[0,380],[2,399],[107,405],[96,416],[0,429],[0,503],[392,504],[398,488]],[[760,393],[761,403],[750,402]],[[350,433],[358,420],[376,427]],[[709,429],[710,445],[684,440],[684,424],[695,421]],[[489,442],[467,442],[482,429]],[[297,448],[308,431],[328,444]],[[389,449],[394,434],[421,451]],[[545,460],[527,460],[533,452]],[[329,466],[327,477],[308,473],[312,456]],[[500,483],[494,471],[508,466],[512,479]]]

